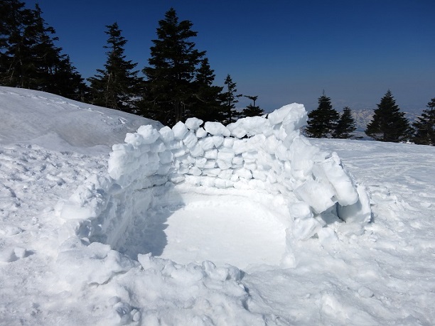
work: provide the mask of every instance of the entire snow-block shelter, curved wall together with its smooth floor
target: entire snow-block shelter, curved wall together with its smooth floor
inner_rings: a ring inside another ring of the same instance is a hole
[[[107,175],[93,175],[63,203],[60,261],[72,254],[89,258],[98,247],[104,259],[116,252],[109,264],[115,273],[129,268],[120,256],[164,257],[173,240],[173,256],[166,257],[173,261],[192,251],[187,259],[198,263],[218,259],[245,267],[261,263],[262,243],[274,240],[269,251],[275,255],[264,252],[272,257],[264,262],[279,264],[291,255],[292,241],[337,241],[343,229],[362,232],[371,217],[365,188],[336,153],[312,146],[301,134],[306,116],[295,103],[228,126],[190,118],[173,128],[148,125],[127,134],[125,143],[112,148]],[[220,205],[234,214],[220,215]],[[237,234],[228,235],[228,229]],[[189,239],[168,239],[169,231]],[[207,237],[212,249],[195,248],[195,237]],[[254,254],[234,254],[247,248]]]

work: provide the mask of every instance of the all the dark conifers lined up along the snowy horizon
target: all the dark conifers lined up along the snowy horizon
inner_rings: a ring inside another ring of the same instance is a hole
[[[215,80],[205,49],[197,48],[193,23],[180,20],[168,9],[156,28],[147,63],[129,60],[127,38],[114,22],[102,26],[105,62],[95,75],[80,75],[73,61],[56,43],[55,28],[45,22],[36,4],[3,0],[0,4],[0,85],[36,89],[80,102],[118,109],[173,126],[197,117],[230,124],[237,119],[267,114],[257,105],[255,94],[237,92],[230,73]],[[240,98],[250,101],[246,107]],[[430,99],[415,121],[408,121],[390,89],[373,110],[365,134],[376,141],[435,145],[435,98]],[[350,107],[333,108],[323,91],[318,107],[308,113],[304,133],[313,138],[351,138],[356,130]]]

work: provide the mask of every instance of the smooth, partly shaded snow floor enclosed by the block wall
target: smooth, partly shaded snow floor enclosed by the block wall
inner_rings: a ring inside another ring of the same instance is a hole
[[[245,196],[184,196],[183,204],[159,207],[149,216],[136,222],[134,234],[123,245],[133,258],[151,252],[177,263],[213,261],[246,270],[262,263],[279,265],[284,254],[283,224],[267,207]]]

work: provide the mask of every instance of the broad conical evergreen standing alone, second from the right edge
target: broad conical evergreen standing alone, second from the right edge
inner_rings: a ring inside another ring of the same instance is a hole
[[[367,124],[365,134],[376,141],[390,141],[398,143],[409,139],[411,129],[409,121],[400,112],[390,89],[377,104],[375,115],[370,124]]]

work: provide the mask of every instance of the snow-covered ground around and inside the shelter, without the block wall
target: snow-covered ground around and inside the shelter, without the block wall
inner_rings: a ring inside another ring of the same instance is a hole
[[[55,112],[41,115],[53,105],[95,114],[75,114],[75,126],[85,129],[71,141],[68,124],[45,129],[60,123]],[[14,114],[23,107],[40,110],[32,129]],[[133,117],[6,87],[0,109],[17,124],[0,121],[1,325],[435,323],[434,147],[311,140],[336,151],[370,192],[372,222],[360,236],[343,232],[335,240],[289,246],[273,195],[186,188],[182,200],[171,197],[150,219],[134,221],[114,248],[132,259],[97,242],[76,244],[104,257],[93,257],[101,266],[90,273],[89,257],[59,257],[59,203],[90,175],[107,173],[108,146],[122,142]],[[88,128],[95,116],[104,119]],[[103,135],[95,142],[99,130],[121,140]],[[289,247],[292,263],[281,261]],[[68,259],[81,265],[60,271],[59,261]],[[104,274],[119,261],[124,269]],[[95,282],[75,283],[81,276]]]

